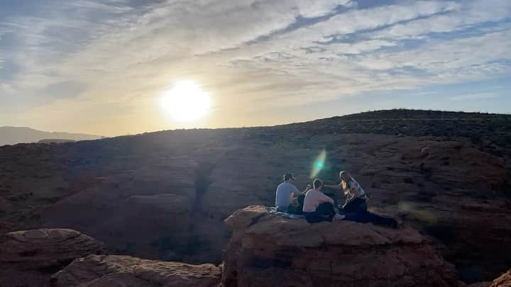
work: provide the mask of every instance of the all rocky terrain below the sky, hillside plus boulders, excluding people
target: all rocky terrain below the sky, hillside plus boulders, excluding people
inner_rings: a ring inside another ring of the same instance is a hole
[[[6,145],[0,162],[1,287],[511,286],[508,115],[167,130]],[[400,227],[265,210],[286,172],[303,190],[341,170]]]

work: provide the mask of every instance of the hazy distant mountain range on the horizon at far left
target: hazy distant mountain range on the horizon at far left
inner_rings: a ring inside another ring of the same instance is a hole
[[[65,140],[97,140],[100,135],[86,135],[82,133],[50,133],[33,128],[0,127],[0,146],[16,145],[28,142],[63,142]]]

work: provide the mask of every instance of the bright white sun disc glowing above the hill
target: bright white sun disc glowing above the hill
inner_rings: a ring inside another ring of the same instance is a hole
[[[209,112],[211,96],[194,81],[178,81],[163,94],[161,105],[176,120],[197,120]]]

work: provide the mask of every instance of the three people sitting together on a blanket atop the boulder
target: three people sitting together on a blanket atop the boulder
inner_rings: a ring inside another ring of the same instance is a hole
[[[353,220],[360,223],[397,227],[395,219],[370,213],[367,210],[368,196],[348,171],[339,172],[339,179],[341,182],[336,185],[323,184],[321,179],[314,179],[312,186],[307,185],[307,188],[300,192],[292,184],[295,181],[295,176],[285,174],[284,182],[277,188],[275,207],[280,212],[302,214],[309,223]],[[343,191],[346,203],[339,206],[336,194],[323,193],[322,188],[324,187]]]

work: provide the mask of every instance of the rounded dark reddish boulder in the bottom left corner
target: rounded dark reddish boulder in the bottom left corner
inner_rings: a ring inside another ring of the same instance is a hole
[[[75,230],[10,232],[0,237],[0,286],[46,286],[72,260],[104,252],[103,243]]]

